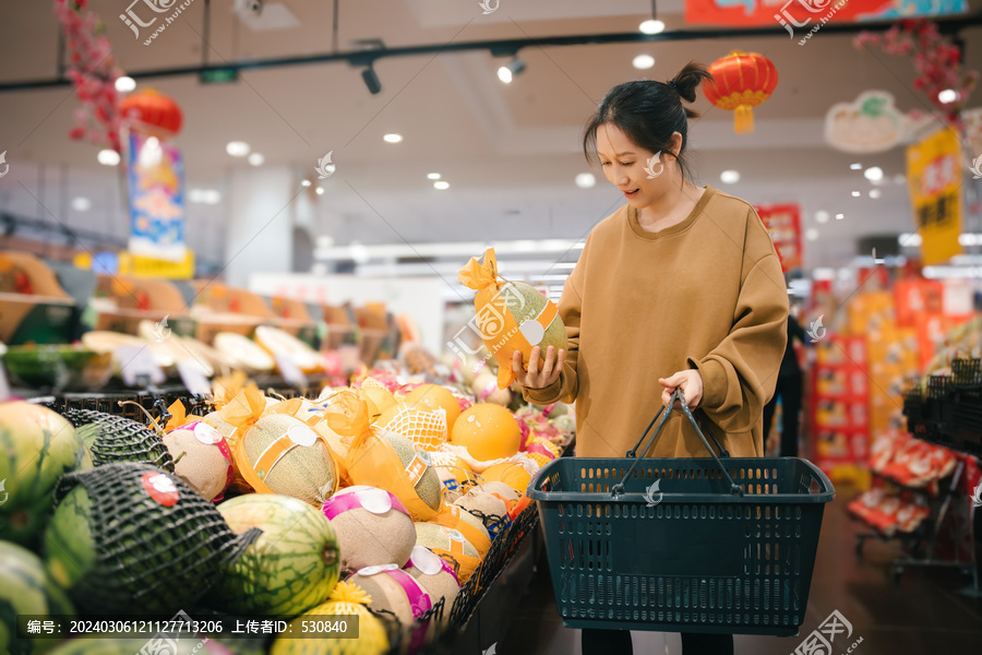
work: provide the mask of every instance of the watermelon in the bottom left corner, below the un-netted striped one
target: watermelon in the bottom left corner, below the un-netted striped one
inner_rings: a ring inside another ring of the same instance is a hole
[[[49,639],[16,639],[17,615],[74,616],[71,603],[45,574],[36,555],[0,541],[0,653],[27,655],[51,646]]]

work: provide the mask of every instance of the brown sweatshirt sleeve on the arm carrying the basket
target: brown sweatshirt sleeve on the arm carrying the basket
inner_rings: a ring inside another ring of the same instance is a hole
[[[777,383],[787,322],[785,276],[771,250],[741,285],[730,333],[706,357],[688,358],[703,378],[699,406],[724,431],[746,431],[761,419]]]

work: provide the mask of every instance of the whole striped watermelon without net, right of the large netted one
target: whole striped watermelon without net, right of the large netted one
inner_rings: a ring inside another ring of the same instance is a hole
[[[340,558],[331,522],[289,496],[249,493],[218,511],[235,533],[258,527],[262,536],[213,588],[220,609],[241,615],[299,615],[337,584]]]

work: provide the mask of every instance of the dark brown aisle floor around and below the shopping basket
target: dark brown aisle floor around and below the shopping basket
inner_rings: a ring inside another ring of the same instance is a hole
[[[855,496],[839,489],[826,507],[809,609],[797,638],[738,635],[738,655],[793,655],[802,640],[834,610],[852,623],[848,643],[837,639],[831,654],[842,655],[857,639],[854,655],[926,655],[982,653],[982,599],[959,595],[971,580],[956,571],[907,569],[895,582],[889,562],[894,545],[867,540],[864,558],[855,555],[855,537],[865,532],[846,513]],[[498,655],[580,655],[579,630],[563,628],[555,608],[544,551],[527,593],[516,598],[507,633],[496,643]],[[634,632],[634,652],[679,655],[678,634]],[[839,645],[843,644],[841,650]]]

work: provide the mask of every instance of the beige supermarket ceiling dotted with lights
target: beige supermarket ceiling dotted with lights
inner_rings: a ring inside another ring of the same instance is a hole
[[[260,19],[236,13],[237,1],[211,1],[206,55],[213,64],[326,53],[335,46],[330,1],[266,1]],[[91,1],[124,71],[202,63],[207,0],[193,0],[149,46],[117,19],[128,3]],[[978,11],[979,3],[972,7]],[[50,0],[0,0],[0,84],[55,78]],[[361,39],[397,47],[632,32],[650,12],[648,0],[500,0],[487,15],[478,0],[340,0],[336,47],[351,50]],[[686,28],[682,0],[659,2],[658,12],[668,29]],[[962,35],[968,67],[982,70],[982,31]],[[525,71],[510,85],[496,78],[510,58],[488,51],[386,58],[374,67],[382,84],[378,95],[368,92],[361,69],[346,62],[246,70],[231,84],[203,85],[195,75],[149,82],[134,76],[183,108],[177,144],[188,187],[225,194],[216,205],[189,206],[192,247],[220,259],[226,230],[237,228],[227,202],[232,177],[286,167],[299,184],[315,177],[314,166],[328,151],[337,172],[323,182],[323,195],[312,198],[307,227],[313,237],[327,236],[336,245],[579,239],[623,203],[600,175],[591,189],[574,183],[589,170],[579,152],[582,127],[603,93],[626,80],[667,80],[690,60],[709,63],[732,50],[766,55],[780,82],[756,109],[752,134],[735,134],[731,112],[698,100],[704,117],[691,128],[696,180],[754,203],[801,203],[804,228],[817,230],[817,239],[806,242],[811,266],[847,261],[860,237],[909,231],[907,190],[898,183],[902,147],[858,156],[824,142],[828,108],[864,91],[890,92],[903,111],[926,107],[912,91],[909,59],[857,50],[849,35],[819,33],[805,47],[783,37],[739,36],[529,47],[518,53]],[[654,57],[654,68],[632,66],[642,53]],[[977,92],[973,105],[979,98]],[[0,210],[47,212],[71,227],[123,233],[120,172],[96,163],[95,146],[68,138],[79,107],[71,90],[11,91],[0,94],[0,151],[8,151],[11,166],[0,180]],[[388,132],[405,139],[385,143]],[[226,144],[236,140],[262,153],[263,166],[230,157]],[[850,169],[855,162],[885,171],[878,198],[870,198],[874,184],[863,171]],[[727,169],[738,170],[740,181],[721,183]],[[450,182],[448,190],[433,188],[427,179],[433,171]],[[74,209],[77,196],[92,206]],[[816,212],[843,218],[818,223]]]

